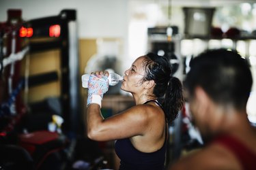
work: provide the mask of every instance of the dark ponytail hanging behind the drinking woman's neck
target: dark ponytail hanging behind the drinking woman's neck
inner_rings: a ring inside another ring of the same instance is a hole
[[[178,78],[171,77],[165,92],[165,98],[162,101],[162,106],[165,109],[165,115],[167,116],[168,122],[175,120],[178,112],[182,109],[183,104],[184,97],[182,82],[180,82]]]

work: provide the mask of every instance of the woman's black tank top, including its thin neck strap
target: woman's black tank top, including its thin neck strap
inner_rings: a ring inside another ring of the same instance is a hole
[[[154,101],[154,100],[153,100]],[[144,104],[150,101],[145,102]],[[158,101],[154,101],[158,105]],[[162,107],[160,105],[160,107]],[[165,130],[165,143],[155,152],[145,153],[137,150],[129,138],[118,139],[115,142],[115,152],[120,158],[119,170],[162,170],[165,167],[165,153],[167,150],[167,130]]]

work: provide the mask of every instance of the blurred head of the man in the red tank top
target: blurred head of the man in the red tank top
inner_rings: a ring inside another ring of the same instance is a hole
[[[190,109],[201,133],[211,130],[216,108],[246,112],[253,78],[246,60],[230,50],[208,50],[195,57],[184,82]]]

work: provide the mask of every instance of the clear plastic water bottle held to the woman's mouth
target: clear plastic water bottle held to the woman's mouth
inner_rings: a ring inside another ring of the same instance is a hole
[[[82,86],[83,88],[88,88],[88,80],[90,74],[82,75]],[[124,78],[117,73],[109,73],[109,86],[115,86],[119,81],[122,81]]]

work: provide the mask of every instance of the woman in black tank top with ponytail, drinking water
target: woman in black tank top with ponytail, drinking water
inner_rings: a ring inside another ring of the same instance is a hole
[[[121,89],[130,92],[135,106],[103,119],[101,99],[108,90],[108,72],[89,78],[87,135],[96,141],[117,140],[119,169],[164,169],[168,122],[183,105],[182,84],[172,76],[167,58],[148,53],[125,71]],[[160,102],[161,101],[161,102]]]

